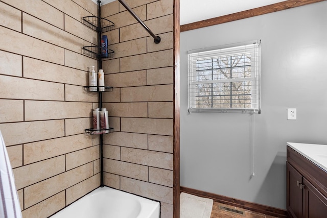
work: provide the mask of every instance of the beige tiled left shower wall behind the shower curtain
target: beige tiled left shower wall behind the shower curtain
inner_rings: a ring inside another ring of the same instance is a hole
[[[99,142],[90,127],[97,95],[83,91],[97,43],[82,25],[90,0],[0,1],[0,130],[24,218],[47,217],[99,187]]]

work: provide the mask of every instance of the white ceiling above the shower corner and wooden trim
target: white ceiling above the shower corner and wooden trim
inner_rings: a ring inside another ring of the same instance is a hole
[[[97,0],[92,0],[97,3]],[[115,0],[101,0],[101,5]],[[285,0],[180,0],[180,25],[271,5]]]

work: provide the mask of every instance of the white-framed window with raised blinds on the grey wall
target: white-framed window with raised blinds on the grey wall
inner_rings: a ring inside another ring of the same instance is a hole
[[[260,113],[260,41],[190,51],[189,112]]]

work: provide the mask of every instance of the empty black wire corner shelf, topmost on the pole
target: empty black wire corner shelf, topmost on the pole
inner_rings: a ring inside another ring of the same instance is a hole
[[[99,19],[100,19],[100,27],[99,27]],[[113,30],[114,23],[110,20],[102,17],[95,17],[95,16],[87,16],[83,17],[83,24],[92,30],[97,32],[103,33],[110,30]]]

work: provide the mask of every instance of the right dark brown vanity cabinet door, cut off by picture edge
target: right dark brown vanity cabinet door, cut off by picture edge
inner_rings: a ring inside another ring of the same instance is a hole
[[[306,218],[327,217],[327,199],[306,178],[303,178],[303,215]]]

